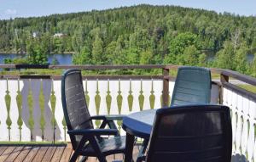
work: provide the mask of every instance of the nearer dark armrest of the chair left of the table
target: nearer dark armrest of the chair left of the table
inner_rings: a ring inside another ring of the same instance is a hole
[[[86,129],[86,130],[67,131],[67,133],[71,135],[101,136],[101,135],[118,135],[119,131],[115,129]]]

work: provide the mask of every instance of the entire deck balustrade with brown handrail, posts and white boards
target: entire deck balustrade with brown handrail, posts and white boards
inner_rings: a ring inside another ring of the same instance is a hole
[[[161,75],[84,75],[90,115],[127,115],[170,105],[176,65],[49,65],[0,64],[9,69],[162,70]],[[36,70],[35,70],[36,71]],[[256,161],[256,94],[229,78],[256,86],[256,79],[236,71],[211,69],[211,103],[231,109],[234,160]],[[214,75],[215,76],[215,75]],[[0,75],[0,142],[68,142],[61,106],[60,75]],[[95,121],[95,126],[100,126]],[[117,123],[121,133],[121,123]],[[185,146],[184,146],[185,147]]]

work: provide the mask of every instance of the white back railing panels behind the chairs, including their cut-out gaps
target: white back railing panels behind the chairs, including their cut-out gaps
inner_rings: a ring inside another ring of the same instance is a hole
[[[61,81],[5,79],[0,81],[0,86],[0,132],[3,132],[0,141],[67,141]],[[170,96],[173,86],[174,82],[170,81]],[[162,81],[84,81],[84,92],[90,98],[90,115],[127,115],[142,109],[161,108]],[[97,94],[100,101],[96,99]],[[121,101],[118,98],[122,98]],[[215,102],[218,99],[217,86],[212,88],[212,101],[214,99]],[[52,122],[54,118],[55,123]]]

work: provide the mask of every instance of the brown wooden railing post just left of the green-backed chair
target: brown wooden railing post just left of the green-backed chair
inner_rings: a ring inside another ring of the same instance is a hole
[[[163,69],[163,107],[169,106],[169,69]]]

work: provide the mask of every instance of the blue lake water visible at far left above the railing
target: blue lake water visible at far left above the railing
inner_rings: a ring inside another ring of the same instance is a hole
[[[25,57],[25,54],[16,54],[16,53],[12,53],[12,54],[5,54],[5,53],[0,53],[0,64],[4,64],[3,63],[3,59],[15,59],[17,57]],[[59,64],[72,64],[72,54],[50,54],[48,56],[48,62],[49,64],[52,63],[53,59],[57,59]]]

